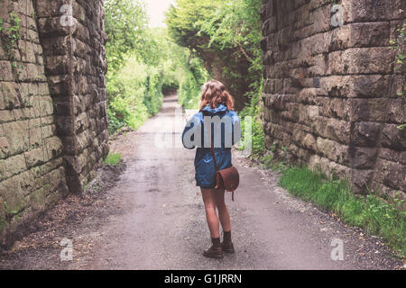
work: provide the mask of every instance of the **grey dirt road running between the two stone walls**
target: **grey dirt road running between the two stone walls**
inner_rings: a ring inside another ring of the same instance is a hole
[[[56,256],[49,264],[35,265],[34,256],[39,254],[26,252],[17,260],[9,257],[20,263],[14,267],[392,269],[401,265],[385,251],[380,238],[346,227],[311,204],[293,199],[277,186],[277,174],[245,159],[234,161],[241,173],[235,202],[226,195],[236,253],[223,260],[203,257],[210,239],[194,182],[195,151],[155,144],[161,137],[180,138],[181,123],[173,122],[175,108],[179,108],[176,96],[166,97],[158,115],[112,145],[124,155],[127,168],[115,187],[105,192],[108,210],[80,220],[78,231],[69,235],[74,251],[84,238],[92,242],[87,257],[77,253],[78,259],[58,264],[60,247],[54,247],[48,253]],[[334,238],[343,243],[343,260],[331,258],[337,247],[331,246]]]

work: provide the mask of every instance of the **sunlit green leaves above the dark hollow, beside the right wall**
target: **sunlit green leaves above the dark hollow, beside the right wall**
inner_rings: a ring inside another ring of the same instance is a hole
[[[261,70],[261,0],[177,0],[167,15],[171,36],[189,47],[235,49]],[[207,38],[208,42],[204,40]],[[230,55],[231,56],[231,55]]]

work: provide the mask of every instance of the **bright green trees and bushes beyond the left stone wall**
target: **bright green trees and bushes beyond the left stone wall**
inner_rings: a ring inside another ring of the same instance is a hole
[[[165,29],[149,29],[142,0],[107,0],[107,113],[110,133],[139,128],[159,112],[162,90],[180,90],[180,103],[196,105],[206,81],[201,61],[175,44]]]

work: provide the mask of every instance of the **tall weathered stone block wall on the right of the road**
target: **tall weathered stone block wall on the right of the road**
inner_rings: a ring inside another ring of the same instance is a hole
[[[332,1],[263,1],[266,145],[348,179],[355,193],[404,197],[406,130],[397,129],[406,121],[404,94],[397,95],[404,76],[388,49],[404,2],[334,2],[339,25]]]

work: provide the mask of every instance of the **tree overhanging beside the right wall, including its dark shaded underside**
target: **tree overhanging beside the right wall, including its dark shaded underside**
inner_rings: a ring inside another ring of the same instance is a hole
[[[261,0],[177,0],[167,15],[171,37],[202,58],[211,77],[228,79],[231,93],[245,94],[246,99],[258,94],[262,77],[261,4]],[[218,60],[226,64],[218,67]]]

